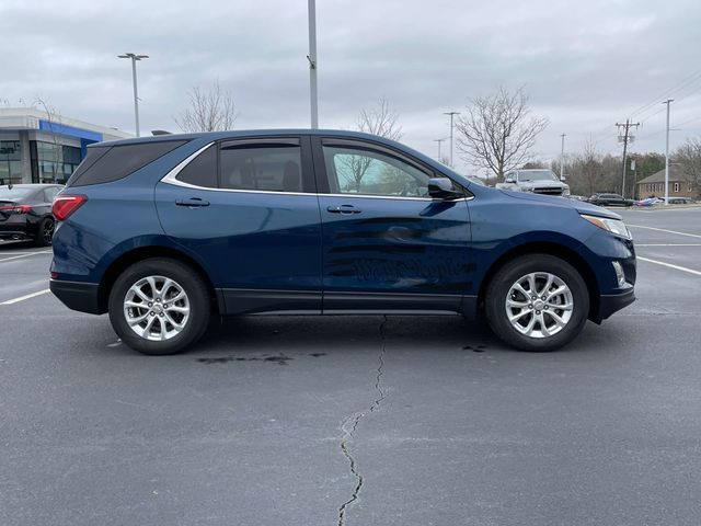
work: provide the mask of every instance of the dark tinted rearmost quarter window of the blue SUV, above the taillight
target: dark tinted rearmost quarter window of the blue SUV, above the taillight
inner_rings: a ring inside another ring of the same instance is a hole
[[[87,186],[117,181],[173,151],[185,140],[140,142],[88,149],[88,157],[71,175],[67,186]],[[93,150],[97,150],[94,151]],[[83,167],[84,165],[84,167]]]

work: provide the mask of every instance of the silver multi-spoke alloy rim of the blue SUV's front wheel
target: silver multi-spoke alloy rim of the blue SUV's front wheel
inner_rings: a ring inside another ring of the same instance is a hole
[[[549,338],[562,331],[572,318],[572,290],[548,272],[518,278],[506,295],[506,316],[521,334]]]

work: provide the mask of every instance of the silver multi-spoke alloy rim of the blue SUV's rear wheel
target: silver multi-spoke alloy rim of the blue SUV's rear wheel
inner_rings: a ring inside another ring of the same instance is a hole
[[[124,317],[139,336],[152,341],[170,340],[187,324],[189,299],[173,279],[147,276],[127,290]]]

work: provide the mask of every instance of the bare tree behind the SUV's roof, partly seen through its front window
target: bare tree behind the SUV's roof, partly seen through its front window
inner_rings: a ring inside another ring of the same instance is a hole
[[[399,140],[402,138],[402,127],[399,125],[399,113],[390,107],[389,102],[380,99],[377,106],[371,110],[360,110],[358,115],[358,130],[366,134],[377,135],[386,139]],[[367,156],[344,156],[342,163],[345,171],[350,175],[346,190],[360,192],[363,178],[372,164],[374,159]],[[386,172],[386,181],[393,181],[397,178],[391,171]]]

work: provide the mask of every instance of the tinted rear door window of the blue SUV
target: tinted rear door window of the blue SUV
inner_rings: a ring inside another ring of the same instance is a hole
[[[221,188],[302,191],[299,146],[222,147],[219,164]]]

